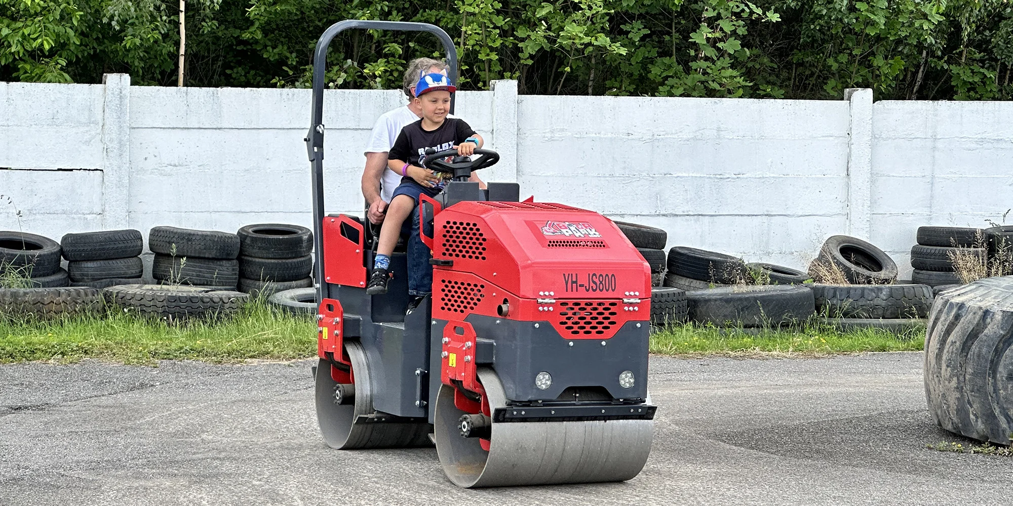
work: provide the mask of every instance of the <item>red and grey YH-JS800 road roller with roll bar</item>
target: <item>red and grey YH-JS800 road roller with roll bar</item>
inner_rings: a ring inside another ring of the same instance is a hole
[[[417,213],[433,291],[407,292],[405,250],[387,293],[368,296],[376,231],[326,215],[323,89],[331,39],[349,28],[432,24],[346,20],[317,43],[307,151],[317,300],[316,411],[338,449],[430,446],[460,487],[616,482],[640,473],[655,407],[647,394],[650,268],[598,213],[520,201],[516,183],[469,182],[498,155],[428,153],[453,179]],[[452,102],[453,111],[453,102]]]

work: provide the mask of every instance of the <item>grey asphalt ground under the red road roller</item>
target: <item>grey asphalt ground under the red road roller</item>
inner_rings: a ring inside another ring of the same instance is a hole
[[[0,366],[0,504],[1013,503],[1013,458],[943,452],[921,353],[652,357],[650,458],[616,484],[463,490],[433,448],[327,448],[312,361]]]

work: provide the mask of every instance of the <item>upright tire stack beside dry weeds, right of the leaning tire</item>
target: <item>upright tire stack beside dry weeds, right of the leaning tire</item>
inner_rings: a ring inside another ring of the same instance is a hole
[[[986,234],[981,229],[958,227],[919,227],[918,244],[911,248],[911,279],[938,286],[961,284],[958,265],[980,266],[988,262]],[[954,263],[956,260],[956,263]]]

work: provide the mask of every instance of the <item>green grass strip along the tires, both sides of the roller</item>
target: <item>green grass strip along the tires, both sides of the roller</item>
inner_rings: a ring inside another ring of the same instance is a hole
[[[74,362],[83,358],[130,364],[158,360],[240,362],[293,360],[316,353],[316,322],[275,311],[257,300],[218,321],[169,323],[130,314],[82,315],[53,321],[0,320],[0,363]],[[839,332],[807,325],[791,330],[717,329],[694,324],[654,329],[650,352],[664,355],[822,356],[863,351],[919,351],[924,329],[894,335],[875,329]]]

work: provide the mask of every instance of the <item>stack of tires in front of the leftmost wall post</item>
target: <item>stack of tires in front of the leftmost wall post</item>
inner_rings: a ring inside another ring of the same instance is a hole
[[[60,240],[71,286],[104,288],[142,282],[144,238],[137,230],[67,234]]]

